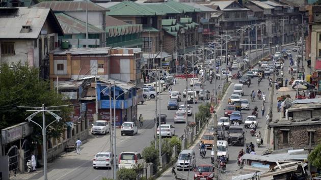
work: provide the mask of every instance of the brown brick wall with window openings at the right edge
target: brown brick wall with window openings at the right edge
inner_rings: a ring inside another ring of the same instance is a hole
[[[289,130],[289,143],[282,143],[282,130]],[[321,125],[274,127],[274,149],[293,147],[308,149],[308,131],[315,130],[315,144],[321,143]],[[312,145],[313,148],[313,145]]]

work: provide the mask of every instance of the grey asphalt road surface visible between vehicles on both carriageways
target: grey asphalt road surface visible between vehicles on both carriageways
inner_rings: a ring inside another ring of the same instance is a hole
[[[266,50],[268,51],[268,50]],[[258,52],[260,54],[261,51]],[[255,52],[251,53],[252,57],[255,55]],[[225,64],[223,64],[225,67]],[[234,70],[232,73],[235,73]],[[236,83],[236,80],[232,80],[232,84]],[[255,80],[253,81],[255,82]],[[267,85],[266,80],[263,80],[260,87],[262,87],[262,91],[267,92]],[[188,85],[190,82],[188,82]],[[217,86],[221,84],[221,80],[218,80]],[[178,79],[175,86],[172,86],[172,91],[179,91],[182,93],[183,89],[185,88],[186,83],[185,79]],[[253,89],[256,85],[251,85],[249,89]],[[190,87],[190,85],[189,85]],[[228,89],[228,95],[232,93],[232,86]],[[264,87],[266,87],[264,89]],[[210,92],[215,88],[214,83],[209,84],[206,81],[205,89],[208,89]],[[247,89],[247,87],[246,87]],[[248,94],[246,93],[244,98],[248,98]],[[161,94],[161,113],[167,114],[167,122],[169,124],[174,125],[174,113],[175,110],[167,110],[167,102],[169,100],[169,92],[165,91]],[[195,112],[198,112],[198,106],[201,104],[202,101],[195,104],[193,108],[195,108]],[[223,112],[223,108],[226,105],[227,96],[221,101],[221,105],[219,106],[218,117],[220,117]],[[183,104],[183,101],[180,102]],[[260,107],[260,102],[255,102],[251,104],[251,106],[257,105]],[[159,102],[157,101],[157,106],[159,108]],[[193,106],[193,105],[192,105]],[[246,117],[250,112],[243,111],[243,116]],[[121,152],[124,151],[136,151],[142,152],[143,148],[150,145],[150,141],[154,139],[154,121],[153,118],[155,116],[155,100],[146,101],[143,105],[138,106],[138,114],[143,114],[145,119],[144,125],[139,132],[135,136],[121,136],[120,129],[116,130],[116,144],[117,144],[117,153],[119,155]],[[193,116],[188,117],[188,121],[193,121]],[[261,119],[260,119],[261,121]],[[175,135],[181,136],[184,133],[185,124],[175,124]],[[264,131],[259,124],[259,130]],[[255,138],[249,136],[249,132],[246,132],[247,141],[255,142]],[[264,134],[264,133],[262,133]],[[101,179],[102,177],[112,177],[112,170],[106,169],[93,169],[92,167],[92,159],[94,158],[95,154],[98,152],[106,152],[110,151],[110,135],[90,135],[88,142],[83,145],[81,155],[77,155],[76,152],[66,153],[62,155],[60,158],[56,159],[53,162],[48,163],[48,179]],[[231,146],[229,149],[230,154],[230,162],[227,165],[227,169],[229,172],[237,169],[236,163],[236,153],[242,147],[234,147]],[[262,147],[264,148],[264,146]],[[198,149],[195,147],[194,150],[198,152]],[[207,155],[210,155],[210,152],[207,152]],[[206,159],[200,160],[197,157],[198,163],[210,163],[209,156]],[[193,176],[194,174],[191,173]],[[191,177],[192,177],[191,176]],[[30,174],[24,174],[23,176],[17,176],[12,179],[43,179],[43,171],[39,169],[36,172],[32,172]],[[161,179],[173,179],[173,176],[170,173],[164,173]]]

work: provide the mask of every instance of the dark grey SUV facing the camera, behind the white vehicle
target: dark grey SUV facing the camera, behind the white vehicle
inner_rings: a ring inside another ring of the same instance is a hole
[[[244,129],[242,126],[230,126],[227,131],[228,134],[228,143],[231,145],[242,145],[245,144],[244,139]]]

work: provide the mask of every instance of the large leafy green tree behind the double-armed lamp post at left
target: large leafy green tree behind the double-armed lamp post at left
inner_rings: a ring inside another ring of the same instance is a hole
[[[0,67],[0,129],[4,129],[18,123],[26,122],[25,118],[31,113],[26,112],[25,108],[18,106],[56,106],[67,105],[62,95],[50,89],[49,81],[39,78],[39,69],[28,65],[2,64]],[[48,138],[58,138],[65,128],[65,119],[71,111],[70,107],[61,107],[58,115],[62,121],[52,124],[47,129]],[[41,113],[33,118],[41,124]],[[54,119],[51,115],[46,115],[46,124]],[[32,139],[42,144],[41,130],[38,126],[31,123],[34,127]],[[55,127],[55,128],[53,128]]]

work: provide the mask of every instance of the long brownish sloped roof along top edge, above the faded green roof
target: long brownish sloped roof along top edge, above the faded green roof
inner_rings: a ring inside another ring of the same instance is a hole
[[[75,11],[86,11],[86,1],[51,1],[41,2],[34,5],[34,7],[51,8],[52,11],[64,11],[64,12],[75,12]],[[88,11],[108,11],[107,9],[88,1]]]

